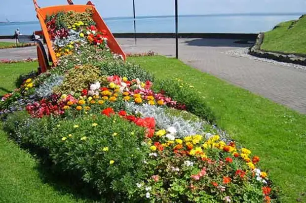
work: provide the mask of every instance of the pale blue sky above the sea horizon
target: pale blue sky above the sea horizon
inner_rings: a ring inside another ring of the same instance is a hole
[[[32,0],[1,0],[0,21],[35,21]],[[87,0],[73,0],[85,4]],[[133,0],[92,0],[102,17],[133,16]],[[175,0],[135,0],[136,16],[174,15]],[[223,13],[306,13],[306,0],[178,0],[179,15]],[[38,0],[40,7],[66,0]]]

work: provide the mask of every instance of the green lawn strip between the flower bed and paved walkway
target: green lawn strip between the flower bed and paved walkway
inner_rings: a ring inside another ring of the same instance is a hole
[[[154,56],[129,61],[158,79],[175,77],[193,84],[212,107],[218,125],[261,157],[261,167],[284,194],[282,202],[294,203],[306,191],[306,116],[175,59]]]

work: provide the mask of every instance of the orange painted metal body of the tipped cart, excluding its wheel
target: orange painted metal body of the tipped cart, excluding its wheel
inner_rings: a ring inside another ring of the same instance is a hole
[[[42,34],[43,34],[43,36],[45,38],[45,41],[47,43],[48,51],[49,51],[49,54],[51,56],[51,59],[52,59],[52,62],[53,62],[54,66],[56,66],[57,58],[56,58],[55,52],[52,48],[52,42],[50,40],[48,30],[47,30],[47,27],[46,27],[46,24],[45,24],[46,16],[47,15],[52,15],[52,14],[57,13],[59,11],[73,10],[73,11],[76,11],[76,12],[85,12],[86,9],[88,9],[88,8],[93,10],[93,20],[96,23],[97,29],[99,31],[102,31],[102,30],[106,31],[106,33],[107,33],[106,35],[107,35],[107,38],[108,38],[108,46],[110,47],[110,49],[114,53],[122,55],[124,60],[126,59],[126,55],[125,55],[124,51],[122,50],[122,48],[120,47],[120,45],[116,41],[116,39],[113,36],[113,34],[111,33],[110,29],[105,24],[104,20],[100,16],[100,14],[97,11],[97,9],[95,8],[95,6],[90,1],[88,1],[87,5],[72,5],[72,4],[71,5],[56,5],[56,6],[48,6],[48,7],[44,7],[44,8],[40,8],[38,6],[37,0],[33,0],[33,2],[34,2],[34,6],[35,6],[35,9],[36,9],[36,12],[37,12],[37,17],[38,17],[38,20],[40,22],[40,26],[41,26],[41,29],[42,29]]]

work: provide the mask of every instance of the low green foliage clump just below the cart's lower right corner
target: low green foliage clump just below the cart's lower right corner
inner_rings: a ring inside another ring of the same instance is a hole
[[[138,78],[140,81],[154,81],[153,75],[146,70],[121,60],[106,60],[95,63],[94,66],[99,67],[104,75],[127,77],[128,80]]]

